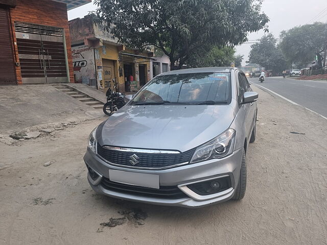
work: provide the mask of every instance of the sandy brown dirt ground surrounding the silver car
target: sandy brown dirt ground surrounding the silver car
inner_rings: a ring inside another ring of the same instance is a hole
[[[327,244],[327,121],[255,90],[242,201],[185,209],[95,194],[83,162],[94,119],[0,143],[1,244]]]

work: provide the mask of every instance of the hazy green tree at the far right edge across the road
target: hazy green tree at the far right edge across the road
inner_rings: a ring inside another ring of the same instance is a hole
[[[281,33],[281,48],[290,62],[306,66],[315,60],[322,66],[323,53],[327,48],[327,24],[315,22],[294,27]]]

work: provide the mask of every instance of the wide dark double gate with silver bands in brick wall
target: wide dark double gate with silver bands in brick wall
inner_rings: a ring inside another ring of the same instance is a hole
[[[15,22],[23,83],[67,83],[63,29]]]

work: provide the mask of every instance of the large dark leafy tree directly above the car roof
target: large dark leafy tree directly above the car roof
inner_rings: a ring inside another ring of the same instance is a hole
[[[238,45],[267,28],[256,0],[95,0],[92,15],[119,42],[140,50],[154,45],[181,68],[193,54]]]

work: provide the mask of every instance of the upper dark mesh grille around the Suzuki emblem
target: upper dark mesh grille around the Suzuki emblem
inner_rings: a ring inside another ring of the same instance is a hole
[[[169,168],[172,166],[180,165],[182,163],[188,163],[194,153],[194,149],[187,152],[178,154],[161,154],[161,153],[136,153],[138,163],[132,165],[130,163],[131,156],[134,152],[124,152],[112,149],[106,149],[103,146],[97,146],[97,153],[106,161],[125,167],[132,168]]]

